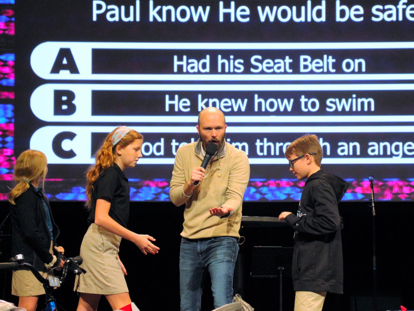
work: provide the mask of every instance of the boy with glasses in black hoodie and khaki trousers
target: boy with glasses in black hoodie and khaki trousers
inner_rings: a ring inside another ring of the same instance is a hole
[[[295,230],[294,311],[320,311],[327,292],[343,293],[343,223],[338,203],[348,184],[320,169],[323,152],[315,135],[296,139],[286,148],[285,157],[298,180],[307,178],[297,215],[287,211],[279,215]]]

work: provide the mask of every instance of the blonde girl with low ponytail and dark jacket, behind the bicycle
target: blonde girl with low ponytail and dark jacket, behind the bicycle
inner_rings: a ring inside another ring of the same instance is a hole
[[[25,262],[34,265],[43,277],[51,267],[63,266],[59,256],[53,255],[60,231],[43,193],[46,173],[46,155],[37,150],[24,151],[16,160],[15,186],[9,193],[12,256],[24,255]],[[19,307],[35,311],[39,295],[45,290],[32,272],[19,270],[13,271],[12,294],[19,296]]]

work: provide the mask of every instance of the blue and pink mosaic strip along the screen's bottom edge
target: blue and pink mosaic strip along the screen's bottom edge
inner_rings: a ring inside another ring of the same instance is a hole
[[[62,190],[68,183],[75,180],[47,179],[46,190],[49,199],[63,201],[86,200],[85,188],[73,185]],[[371,187],[368,180],[348,179],[350,187],[343,197],[343,201],[368,201],[371,199]],[[132,179],[130,183],[131,201],[169,201],[169,180],[141,180]],[[301,198],[304,181],[296,179],[283,180],[250,180],[243,200],[270,202],[270,201],[298,201]],[[413,201],[414,178],[407,180],[387,179],[374,181],[375,199],[378,201]]]

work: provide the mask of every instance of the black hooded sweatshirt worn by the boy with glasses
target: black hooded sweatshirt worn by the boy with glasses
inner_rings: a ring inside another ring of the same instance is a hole
[[[295,230],[292,278],[295,291],[343,293],[338,203],[348,183],[319,170],[306,180],[298,214],[286,216]]]

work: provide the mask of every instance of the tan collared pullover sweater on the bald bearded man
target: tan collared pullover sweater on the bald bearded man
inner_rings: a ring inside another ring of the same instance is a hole
[[[202,144],[195,143],[178,148],[170,183],[170,198],[176,206],[185,203],[184,238],[211,238],[214,236],[239,237],[241,206],[246,190],[250,166],[244,151],[224,142],[210,160],[206,176],[194,187],[190,197],[184,194],[183,186],[190,180],[193,168],[199,167],[204,156]],[[212,216],[212,207],[232,207],[226,218]]]

